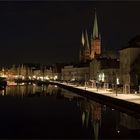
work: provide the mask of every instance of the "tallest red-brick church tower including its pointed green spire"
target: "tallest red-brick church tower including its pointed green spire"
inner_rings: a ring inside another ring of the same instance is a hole
[[[91,35],[91,54],[90,59],[99,57],[101,54],[101,37],[98,31],[97,15],[95,9],[93,33]]]

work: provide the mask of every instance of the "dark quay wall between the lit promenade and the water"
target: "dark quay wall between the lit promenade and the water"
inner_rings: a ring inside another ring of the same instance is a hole
[[[74,86],[69,86],[69,85],[65,85],[61,83],[53,83],[53,82],[50,82],[50,84],[55,84],[61,88],[77,93],[78,95],[97,101],[103,105],[108,105],[114,109],[118,109],[122,112],[128,113],[129,115],[132,115],[136,118],[140,117],[140,104],[129,102],[124,99],[113,98],[113,97],[106,96],[100,93],[95,93],[95,92],[79,89],[79,88],[76,88],[76,86],[74,87]]]

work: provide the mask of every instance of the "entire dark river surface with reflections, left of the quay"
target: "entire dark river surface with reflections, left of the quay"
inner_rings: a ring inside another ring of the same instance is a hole
[[[138,139],[140,120],[57,86],[0,91],[0,138]]]

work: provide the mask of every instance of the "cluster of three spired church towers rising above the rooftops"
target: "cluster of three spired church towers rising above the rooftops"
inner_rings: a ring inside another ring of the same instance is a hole
[[[86,62],[98,57],[101,54],[101,40],[98,31],[97,14],[95,10],[93,32],[89,41],[87,30],[82,32],[82,47],[80,50],[80,61]]]

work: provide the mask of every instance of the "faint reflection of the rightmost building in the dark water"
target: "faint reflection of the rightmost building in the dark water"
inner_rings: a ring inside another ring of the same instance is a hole
[[[129,130],[140,130],[140,121],[132,116],[120,112],[120,125]]]

